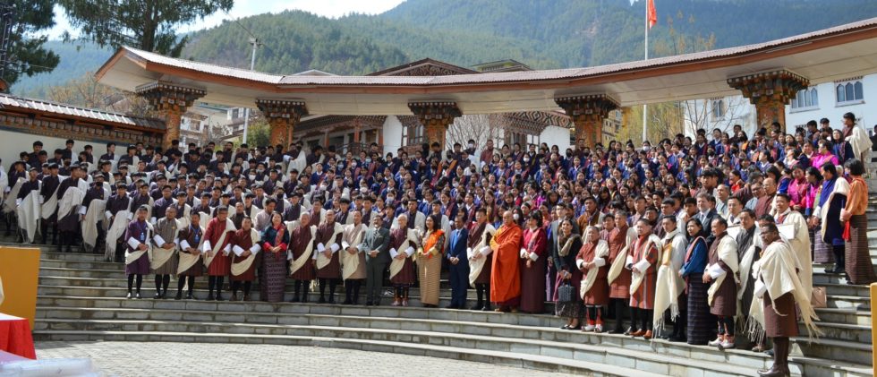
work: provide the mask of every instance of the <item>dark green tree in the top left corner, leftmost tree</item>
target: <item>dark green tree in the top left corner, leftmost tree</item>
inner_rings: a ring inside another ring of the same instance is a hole
[[[60,59],[43,46],[48,37],[36,36],[38,31],[55,26],[55,13],[52,12],[54,2],[14,0],[3,3],[13,5],[12,34],[3,80],[12,85],[22,74],[30,77],[55,69]]]

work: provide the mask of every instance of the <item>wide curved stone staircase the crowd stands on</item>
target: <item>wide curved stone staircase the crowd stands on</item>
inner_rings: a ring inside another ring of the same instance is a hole
[[[875,185],[877,187],[877,185]],[[877,195],[872,197],[877,208]],[[869,240],[877,260],[877,210],[869,210]],[[5,242],[4,242],[5,241]],[[13,245],[0,237],[0,243]],[[20,244],[15,244],[20,246]],[[144,278],[141,300],[123,298],[121,263],[101,255],[54,253],[39,246],[36,340],[174,341],[338,347],[447,357],[559,373],[598,376],[754,376],[771,358],[745,349],[719,351],[664,340],[560,330],[549,314],[424,309],[417,289],[412,307],[341,304],[267,304],[153,300]],[[871,376],[871,302],[867,287],[850,286],[814,266],[814,284],[827,287],[828,307],[818,309],[824,331],[809,342],[794,339],[796,376]],[[199,278],[195,296],[207,296]],[[227,283],[226,283],[227,285]],[[175,290],[171,282],[169,293]],[[449,304],[442,281],[440,307]],[[287,292],[291,287],[287,286]],[[170,295],[173,296],[173,295]],[[230,295],[226,295],[226,298]],[[470,304],[474,304],[470,290]],[[287,294],[287,298],[289,295]],[[253,287],[258,299],[258,283]],[[317,299],[311,294],[311,303]],[[383,304],[389,304],[384,298]],[[553,304],[547,303],[547,311]]]

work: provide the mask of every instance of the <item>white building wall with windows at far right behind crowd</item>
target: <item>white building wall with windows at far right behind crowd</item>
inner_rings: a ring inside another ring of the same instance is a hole
[[[805,125],[810,120],[819,122],[822,118],[828,118],[831,127],[842,128],[843,116],[847,112],[855,114],[858,118],[858,124],[862,125],[868,133],[873,132],[874,125],[877,124],[877,107],[874,107],[874,104],[877,103],[877,74],[864,76],[862,85],[864,87],[864,101],[856,105],[845,106],[838,106],[833,81],[816,85],[816,91],[819,93],[819,106],[794,110],[791,105],[786,107],[788,132],[793,133],[796,126]]]

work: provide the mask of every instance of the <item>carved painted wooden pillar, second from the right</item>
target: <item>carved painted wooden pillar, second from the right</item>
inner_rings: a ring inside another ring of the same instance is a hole
[[[618,108],[618,102],[605,94],[560,97],[554,101],[575,124],[577,148],[593,148],[598,142],[602,143],[603,120],[609,111]]]

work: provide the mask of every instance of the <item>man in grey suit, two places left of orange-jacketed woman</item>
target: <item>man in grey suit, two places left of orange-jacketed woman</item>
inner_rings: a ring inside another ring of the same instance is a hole
[[[384,281],[384,270],[390,261],[390,232],[384,227],[384,218],[371,218],[371,227],[365,232],[365,238],[359,245],[360,252],[365,253],[365,305],[380,304],[380,288]]]

